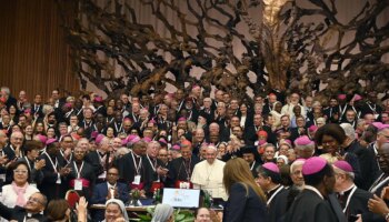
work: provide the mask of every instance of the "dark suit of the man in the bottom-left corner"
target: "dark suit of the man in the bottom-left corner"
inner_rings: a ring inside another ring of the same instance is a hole
[[[16,220],[18,222],[23,222],[24,219],[36,219],[40,222],[48,221],[47,218],[40,213],[28,215],[26,209],[17,205],[14,208],[7,208],[4,204],[0,202],[0,216],[7,220]]]

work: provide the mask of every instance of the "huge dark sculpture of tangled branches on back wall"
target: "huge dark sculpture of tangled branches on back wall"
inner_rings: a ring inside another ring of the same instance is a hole
[[[239,98],[248,89],[326,97],[388,89],[389,19],[378,20],[388,1],[366,1],[348,23],[339,21],[335,0],[308,0],[309,7],[295,0],[139,1],[167,33],[141,23],[133,1],[79,1],[79,17],[67,29],[83,87],[90,81],[107,94],[139,94],[161,92],[167,83],[199,84],[206,93],[215,85]]]

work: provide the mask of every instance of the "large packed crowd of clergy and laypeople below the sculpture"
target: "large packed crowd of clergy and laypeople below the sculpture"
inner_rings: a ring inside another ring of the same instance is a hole
[[[375,91],[239,100],[193,85],[107,99],[52,90],[43,100],[2,87],[0,215],[128,221],[131,193],[177,188],[209,194],[228,222],[389,221],[388,141],[389,99]],[[82,196],[74,206],[72,193]],[[158,205],[166,219],[154,221],[172,221],[170,208]],[[200,212],[196,221],[211,220]]]

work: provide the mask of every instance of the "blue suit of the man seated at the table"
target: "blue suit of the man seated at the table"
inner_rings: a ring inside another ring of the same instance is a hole
[[[119,194],[119,200],[121,200],[123,203],[127,203],[129,201],[129,190],[128,186],[124,183],[117,182],[117,189]],[[108,195],[108,184],[107,182],[99,183],[93,189],[93,195],[90,199],[91,204],[106,204]],[[92,212],[93,221],[102,221],[104,220],[104,211],[103,210],[96,210]]]

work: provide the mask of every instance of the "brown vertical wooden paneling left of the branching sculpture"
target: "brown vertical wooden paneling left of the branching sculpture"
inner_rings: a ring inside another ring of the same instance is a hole
[[[57,0],[0,0],[0,85],[13,95],[26,90],[29,98],[47,99],[54,88],[79,91],[62,29],[76,16],[77,1],[63,2],[72,11],[66,17]]]

